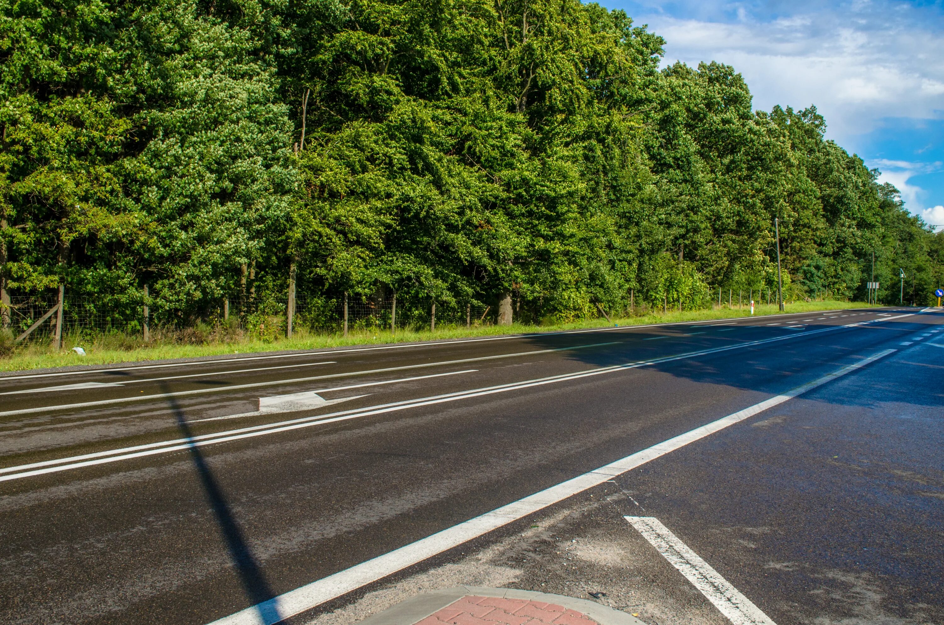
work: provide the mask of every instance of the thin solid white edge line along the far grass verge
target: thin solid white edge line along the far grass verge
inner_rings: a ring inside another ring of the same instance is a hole
[[[880,308],[894,308],[892,306],[880,307]],[[854,311],[855,309],[844,309]],[[920,313],[932,312],[935,309],[923,309],[919,311]],[[485,341],[507,341],[509,339],[522,339],[522,338],[531,338],[531,337],[541,337],[541,336],[560,336],[563,334],[586,334],[590,332],[606,332],[614,329],[644,329],[644,328],[668,328],[671,326],[684,326],[684,325],[696,325],[696,324],[707,324],[714,321],[727,321],[733,319],[734,321],[743,321],[749,320],[752,318],[762,318],[762,317],[792,317],[799,316],[801,314],[808,313],[784,313],[784,314],[766,314],[759,315],[757,317],[743,316],[743,317],[726,317],[723,319],[706,319],[704,321],[673,321],[670,323],[662,324],[647,324],[645,326],[617,326],[617,327],[607,327],[607,328],[589,328],[589,329],[565,329],[557,332],[530,332],[525,334],[510,334],[508,336],[489,336],[480,339],[457,339],[454,341],[428,341],[425,343],[410,343],[407,345],[391,345],[391,346],[372,346],[372,347],[356,347],[353,349],[322,349],[319,351],[302,351],[292,354],[273,354],[268,356],[247,356],[245,358],[222,358],[218,360],[192,360],[186,361],[183,363],[162,363],[162,364],[137,364],[134,366],[126,367],[112,367],[112,368],[101,368],[101,369],[81,369],[79,371],[58,371],[56,373],[34,373],[34,374],[25,374],[22,376],[3,376],[0,374],[0,382],[4,380],[28,380],[32,378],[52,378],[56,376],[76,376],[84,375],[90,373],[110,373],[115,371],[138,371],[142,369],[159,369],[162,367],[172,367],[172,366],[194,366],[200,364],[216,364],[216,363],[242,363],[245,361],[261,361],[261,360],[273,360],[277,358],[299,358],[301,356],[330,356],[331,354],[349,354],[361,351],[378,351],[384,349],[406,349],[408,347],[435,347],[435,346],[444,346],[444,345],[456,345],[459,343],[482,343]],[[865,313],[860,313],[865,314]],[[909,313],[914,314],[914,313]],[[212,373],[212,372],[210,372]]]

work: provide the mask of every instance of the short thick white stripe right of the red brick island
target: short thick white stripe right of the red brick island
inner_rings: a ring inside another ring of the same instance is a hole
[[[624,516],[734,625],[777,625],[654,516]]]

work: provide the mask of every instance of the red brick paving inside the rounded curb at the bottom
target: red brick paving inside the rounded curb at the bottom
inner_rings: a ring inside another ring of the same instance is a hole
[[[415,625],[599,625],[576,610],[544,601],[464,597]]]

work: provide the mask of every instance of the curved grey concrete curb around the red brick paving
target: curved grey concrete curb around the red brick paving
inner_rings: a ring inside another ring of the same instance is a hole
[[[596,620],[599,625],[646,625],[643,621],[632,615],[614,610],[605,605],[600,605],[591,600],[566,597],[565,595],[539,593],[532,590],[464,585],[435,590],[431,593],[418,595],[413,597],[413,599],[402,601],[373,617],[362,620],[361,625],[413,625],[429,617],[431,614],[442,610],[447,605],[469,596],[500,597],[502,599],[521,599],[554,603],[581,612]]]

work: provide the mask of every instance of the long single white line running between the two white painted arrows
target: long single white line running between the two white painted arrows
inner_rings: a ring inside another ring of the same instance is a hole
[[[499,358],[513,358],[516,356],[533,356],[535,354],[547,354],[554,351],[567,351],[570,349],[582,349],[584,347],[598,347],[607,345],[616,345],[616,341],[610,343],[595,343],[592,345],[556,347],[554,349],[534,349],[531,351],[519,351],[514,354],[498,354],[497,356],[480,356],[478,358],[463,358],[456,361],[442,361],[440,363],[422,363],[405,364],[403,366],[391,366],[383,369],[370,369],[367,371],[350,371],[347,373],[331,373],[324,376],[312,376],[310,378],[295,378],[292,380],[269,380],[265,382],[252,382],[250,384],[229,384],[228,386],[218,386],[216,388],[200,388],[193,391],[175,391],[173,393],[156,393],[153,395],[139,395],[136,397],[118,397],[115,399],[99,399],[98,401],[83,401],[76,404],[62,404],[59,406],[40,406],[37,408],[22,408],[20,410],[8,410],[0,413],[0,416],[10,416],[14,414],[36,414],[60,410],[73,410],[76,408],[90,408],[93,406],[107,406],[110,404],[124,404],[132,401],[144,401],[147,399],[163,399],[166,397],[186,397],[192,395],[207,395],[210,393],[225,393],[227,391],[239,391],[247,388],[261,388],[263,386],[281,386],[283,384],[297,384],[299,382],[310,382],[313,380],[330,380],[332,378],[353,378],[355,376],[367,376],[375,373],[389,373],[390,371],[406,371],[408,369],[419,369],[430,366],[443,366],[447,364],[478,363],[480,361],[497,360]]]

